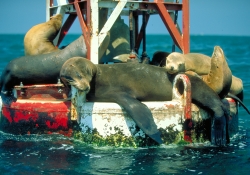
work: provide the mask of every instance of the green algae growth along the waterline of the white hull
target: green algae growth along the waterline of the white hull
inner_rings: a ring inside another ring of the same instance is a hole
[[[183,132],[174,129],[174,125],[170,125],[165,129],[159,128],[164,144],[188,144],[183,138]],[[110,128],[112,129],[112,128]],[[84,133],[82,131],[74,131],[74,138],[86,144],[94,146],[113,146],[113,147],[147,147],[157,146],[158,144],[150,137],[146,136],[126,136],[118,127],[114,127],[115,134],[103,137],[97,129],[88,128]],[[139,130],[138,130],[139,131]]]

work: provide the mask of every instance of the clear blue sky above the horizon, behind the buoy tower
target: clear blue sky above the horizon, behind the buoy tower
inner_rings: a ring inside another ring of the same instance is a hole
[[[25,34],[46,21],[46,0],[1,0],[0,34]],[[190,0],[191,35],[250,36],[250,0]],[[126,18],[126,17],[124,17]],[[181,13],[178,23],[181,24]],[[78,20],[69,33],[81,33]],[[148,34],[168,34],[158,15],[150,17]]]

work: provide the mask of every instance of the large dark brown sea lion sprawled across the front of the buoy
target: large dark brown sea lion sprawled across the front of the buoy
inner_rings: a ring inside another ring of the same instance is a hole
[[[213,112],[216,126],[225,123],[228,110],[218,95],[200,78],[187,76],[191,82],[192,101]],[[174,76],[166,69],[148,64],[95,65],[85,58],[74,57],[63,64],[60,77],[65,84],[85,91],[88,101],[118,103],[142,131],[162,143],[151,111],[140,101],[172,100]],[[225,125],[219,128],[225,131]],[[223,133],[222,130],[218,132]]]

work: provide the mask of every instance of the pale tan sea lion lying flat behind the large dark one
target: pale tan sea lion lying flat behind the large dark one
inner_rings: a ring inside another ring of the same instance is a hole
[[[165,68],[170,74],[193,71],[198,75],[207,75],[211,67],[210,57],[200,53],[172,52],[166,59]]]

